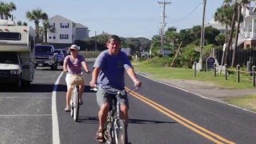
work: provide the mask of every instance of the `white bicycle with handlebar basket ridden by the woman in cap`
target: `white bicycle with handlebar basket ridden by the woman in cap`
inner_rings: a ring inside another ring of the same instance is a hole
[[[79,115],[79,85],[83,85],[85,83],[84,79],[82,78],[82,74],[73,74],[71,78],[71,86],[73,86],[73,91],[70,99],[70,115],[74,118],[75,122],[78,122],[78,115]],[[86,72],[88,74],[88,72]]]

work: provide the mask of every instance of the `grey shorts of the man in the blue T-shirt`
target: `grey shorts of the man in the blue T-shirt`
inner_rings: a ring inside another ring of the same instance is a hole
[[[96,98],[97,98],[98,106],[102,106],[106,102],[110,103],[110,106],[112,106],[112,102],[113,102],[113,99],[115,98],[115,96],[114,96],[114,94],[106,93],[105,90],[103,90],[101,87],[99,87],[98,91],[96,93]],[[121,103],[121,105],[126,105],[129,108],[127,94],[122,95],[120,97],[120,103]]]

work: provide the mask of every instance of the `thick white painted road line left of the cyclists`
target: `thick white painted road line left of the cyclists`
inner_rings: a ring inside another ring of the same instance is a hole
[[[63,74],[63,72],[62,72]],[[56,91],[58,88],[58,82],[62,77],[62,74],[58,76],[58,79],[54,83],[54,91],[51,99],[51,114],[52,114],[52,126],[53,126],[53,144],[60,144],[59,131],[58,131],[58,114],[56,105]]]

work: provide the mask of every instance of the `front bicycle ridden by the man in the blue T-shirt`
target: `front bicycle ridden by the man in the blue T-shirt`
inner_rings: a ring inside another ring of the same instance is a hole
[[[106,125],[104,126],[104,138],[106,139],[106,143],[125,144],[128,142],[128,137],[126,123],[120,118],[120,97],[124,96],[126,93],[130,93],[131,90],[138,88],[138,86],[134,86],[129,91],[117,90],[111,87],[106,89],[102,86],[95,86],[95,88],[91,90],[97,91],[98,87],[101,87],[106,93],[114,94],[115,96],[108,112]]]

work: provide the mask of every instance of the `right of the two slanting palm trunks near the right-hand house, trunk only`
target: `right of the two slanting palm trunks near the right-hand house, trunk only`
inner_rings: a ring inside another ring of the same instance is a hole
[[[237,54],[237,46],[238,46],[238,34],[239,34],[239,27],[240,27],[240,15],[241,14],[241,4],[238,4],[238,26],[237,30],[235,32],[235,43],[234,43],[234,50],[233,50],[233,55],[232,55],[232,63],[231,66],[234,67],[234,61],[236,60],[236,54]]]

